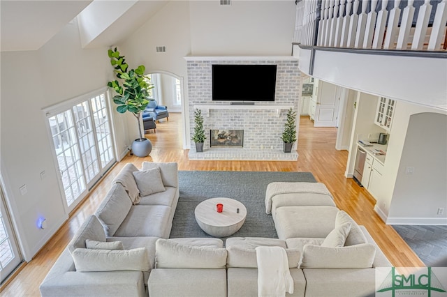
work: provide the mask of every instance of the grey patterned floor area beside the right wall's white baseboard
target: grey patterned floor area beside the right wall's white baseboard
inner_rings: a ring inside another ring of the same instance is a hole
[[[447,266],[447,226],[393,225],[426,266]]]

